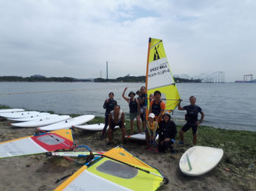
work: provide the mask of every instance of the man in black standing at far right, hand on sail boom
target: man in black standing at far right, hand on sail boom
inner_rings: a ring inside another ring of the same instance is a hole
[[[196,97],[190,96],[190,105],[181,107],[181,103],[178,104],[179,110],[186,110],[187,114],[185,115],[185,120],[187,120],[187,123],[184,124],[182,129],[179,131],[179,137],[181,137],[180,144],[184,143],[184,132],[188,129],[192,128],[193,133],[193,143],[196,145],[197,137],[197,129],[198,125],[200,125],[204,120],[204,112],[202,111],[201,107],[198,107],[196,105]],[[198,120],[198,113],[201,114],[201,119]]]

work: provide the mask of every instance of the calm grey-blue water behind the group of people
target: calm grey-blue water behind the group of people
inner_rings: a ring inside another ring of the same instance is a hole
[[[124,87],[128,87],[128,94],[142,85],[145,84],[0,82],[0,104],[28,110],[103,116],[103,103],[109,92],[115,93],[114,99],[123,111],[128,112],[128,104],[122,98]],[[196,104],[205,114],[204,125],[256,131],[256,83],[181,83],[177,87],[184,100],[181,106],[189,104],[190,95],[196,96]],[[183,124],[184,114],[176,109],[172,118]]]

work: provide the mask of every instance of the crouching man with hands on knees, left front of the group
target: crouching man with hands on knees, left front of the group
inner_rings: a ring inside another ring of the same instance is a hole
[[[125,142],[125,113],[122,112],[119,105],[114,107],[114,110],[109,113],[108,116],[108,143],[107,145],[111,145],[113,131],[115,126],[120,126],[122,131],[122,142]]]

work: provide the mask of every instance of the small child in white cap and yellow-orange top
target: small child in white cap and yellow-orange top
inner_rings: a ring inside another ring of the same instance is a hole
[[[157,136],[157,129],[159,128],[156,121],[153,119],[155,118],[155,115],[151,113],[148,115],[148,122],[147,122],[147,130],[149,135],[149,148],[148,151],[157,151],[157,144],[156,144],[156,136]]]

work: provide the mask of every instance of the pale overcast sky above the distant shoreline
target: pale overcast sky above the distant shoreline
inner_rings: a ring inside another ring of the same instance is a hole
[[[173,75],[256,78],[255,0],[0,0],[0,76],[142,76],[149,37]]]

